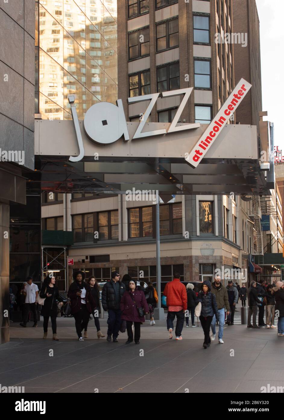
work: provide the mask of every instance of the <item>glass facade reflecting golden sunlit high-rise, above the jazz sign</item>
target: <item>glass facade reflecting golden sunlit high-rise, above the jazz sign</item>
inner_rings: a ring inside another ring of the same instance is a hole
[[[97,102],[117,99],[116,0],[36,2],[35,112],[49,120],[78,118]]]

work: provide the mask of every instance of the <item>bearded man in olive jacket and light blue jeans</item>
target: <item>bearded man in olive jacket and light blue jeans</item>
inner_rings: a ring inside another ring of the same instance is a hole
[[[224,344],[223,331],[224,331],[224,323],[225,323],[225,311],[227,310],[227,315],[229,315],[230,304],[229,304],[227,289],[225,286],[222,285],[220,276],[215,277],[215,281],[212,283],[211,293],[214,294],[216,298],[217,308],[219,312],[219,331],[218,331],[219,344]],[[216,316],[215,315],[212,318],[211,330],[212,330],[211,340],[214,341],[216,337]]]

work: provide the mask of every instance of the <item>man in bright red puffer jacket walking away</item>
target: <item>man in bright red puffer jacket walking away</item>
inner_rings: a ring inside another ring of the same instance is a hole
[[[168,306],[167,328],[169,339],[173,338],[173,321],[176,317],[176,340],[182,340],[181,331],[184,324],[184,311],[187,310],[186,286],[181,283],[180,278],[180,274],[175,273],[173,281],[167,283],[164,290]]]

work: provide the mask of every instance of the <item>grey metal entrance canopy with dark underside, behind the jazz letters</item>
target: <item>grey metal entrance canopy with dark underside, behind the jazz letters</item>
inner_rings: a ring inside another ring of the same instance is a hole
[[[191,168],[184,155],[205,126],[129,142],[119,139],[107,146],[91,142],[82,128],[85,156],[73,163],[69,157],[78,155],[78,147],[70,124],[45,120],[36,124],[36,171],[27,175],[40,183],[42,191],[121,194],[135,188],[164,194],[270,195],[272,186],[266,184],[258,161],[254,126],[227,125],[197,168]],[[138,123],[127,124],[134,126],[129,126],[132,138]]]

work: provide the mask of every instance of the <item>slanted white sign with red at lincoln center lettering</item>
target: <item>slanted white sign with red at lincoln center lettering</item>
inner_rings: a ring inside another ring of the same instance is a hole
[[[217,115],[213,118],[207,129],[199,138],[198,142],[185,158],[193,168],[196,168],[196,166],[201,162],[207,150],[214,143],[218,134],[229,120],[231,114],[236,108],[238,108],[240,102],[242,102],[250,88],[250,83],[245,81],[245,79],[240,79],[239,83],[235,86],[235,89],[227,97],[227,100],[219,109]]]

